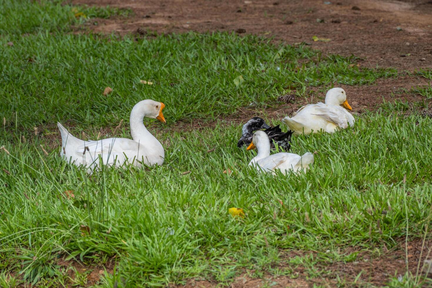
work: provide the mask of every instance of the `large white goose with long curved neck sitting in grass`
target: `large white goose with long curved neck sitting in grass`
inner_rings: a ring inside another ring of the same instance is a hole
[[[130,112],[130,134],[133,140],[114,137],[84,141],[72,136],[63,125],[57,122],[62,142],[60,156],[76,166],[86,166],[88,173],[97,169],[101,160],[104,165],[116,167],[127,163],[138,167],[143,164],[162,165],[165,158],[162,144],[146,129],[143,119],[148,117],[166,123],[162,114],[163,108],[165,104],[162,102],[149,99],[133,106]]]

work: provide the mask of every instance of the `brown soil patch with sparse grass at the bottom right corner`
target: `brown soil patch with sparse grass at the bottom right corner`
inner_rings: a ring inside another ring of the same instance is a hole
[[[334,263],[318,263],[314,268],[316,271],[325,271],[325,275],[322,278],[311,278],[308,275],[305,267],[293,267],[289,265],[289,260],[293,258],[293,255],[297,256],[298,253],[292,251],[283,251],[281,258],[283,261],[277,266],[280,270],[285,268],[292,271],[292,276],[272,276],[266,273],[262,279],[253,278],[250,275],[251,271],[246,271],[240,276],[236,277],[230,287],[262,287],[264,285],[271,287],[314,287],[314,285],[325,285],[334,287],[337,285],[339,279],[346,281],[346,285],[362,285],[368,283],[368,285],[385,285],[389,281],[390,277],[394,275],[404,275],[407,272],[406,260],[406,249],[405,249],[405,238],[397,240],[398,244],[390,251],[382,248],[380,256],[374,256],[370,251],[359,251],[356,261],[353,262],[334,262]],[[432,248],[432,240],[427,240],[425,245],[422,245],[422,239],[414,239],[408,241],[407,245],[408,255],[408,271],[412,275],[417,273],[417,265],[420,263],[419,275],[421,275],[423,261],[428,256],[428,251]],[[347,249],[345,253],[356,252],[353,247]],[[317,253],[310,252],[304,253],[313,254],[316,259]],[[421,258],[420,258],[420,254]],[[429,255],[430,258],[430,255]],[[253,272],[253,271],[252,271]],[[361,274],[360,274],[361,273]],[[359,276],[360,275],[360,276]],[[358,278],[357,278],[358,277]],[[357,278],[357,279],[356,279]],[[356,284],[354,283],[356,281]],[[189,279],[185,285],[176,285],[173,287],[178,288],[197,288],[197,287],[218,287],[218,283],[215,281],[208,280],[194,280]]]

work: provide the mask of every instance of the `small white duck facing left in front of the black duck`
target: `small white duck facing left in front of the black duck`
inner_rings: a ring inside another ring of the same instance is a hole
[[[314,155],[306,152],[303,156],[294,153],[276,153],[270,155],[270,140],[264,131],[257,131],[252,137],[252,142],[247,150],[257,148],[257,155],[249,162],[249,166],[255,166],[260,172],[276,174],[279,169],[283,174],[289,171],[297,172],[301,169],[307,171],[309,164],[314,163]]]

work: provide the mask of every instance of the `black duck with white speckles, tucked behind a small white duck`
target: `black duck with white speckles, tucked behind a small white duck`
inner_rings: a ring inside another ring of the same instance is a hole
[[[282,132],[282,130],[279,128],[279,125],[270,127],[260,117],[253,117],[251,120],[246,122],[245,125],[243,125],[241,130],[241,138],[238,140],[237,147],[240,148],[243,145],[251,144],[254,131],[261,129],[266,129],[263,132],[265,132],[270,139],[270,149],[275,149],[274,143],[276,142],[277,145],[284,151],[289,151],[291,148],[291,144],[289,144],[289,142],[291,141],[292,131],[288,130],[288,132]]]

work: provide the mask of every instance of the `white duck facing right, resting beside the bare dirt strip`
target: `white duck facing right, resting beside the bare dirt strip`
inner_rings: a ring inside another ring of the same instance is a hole
[[[346,109],[353,110],[346,100],[345,90],[332,88],[325,95],[325,104],[308,104],[282,121],[297,134],[324,131],[333,133],[354,125],[354,117]]]

